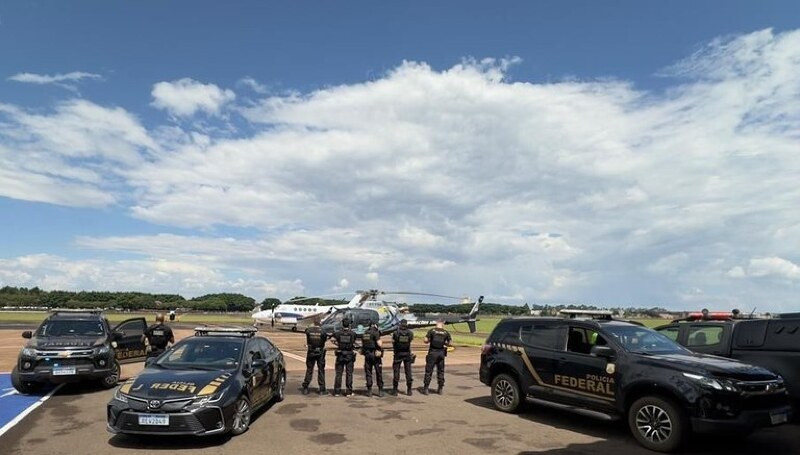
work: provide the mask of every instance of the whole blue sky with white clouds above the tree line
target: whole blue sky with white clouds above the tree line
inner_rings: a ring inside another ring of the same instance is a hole
[[[797,2],[431,3],[4,3],[0,284],[796,307]]]

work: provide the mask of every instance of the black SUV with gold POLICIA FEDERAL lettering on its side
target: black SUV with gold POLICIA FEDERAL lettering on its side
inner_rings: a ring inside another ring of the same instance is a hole
[[[780,376],[610,318],[504,319],[483,347],[480,379],[501,411],[532,397],[626,418],[642,446],[663,452],[692,431],[746,434],[791,413]]]

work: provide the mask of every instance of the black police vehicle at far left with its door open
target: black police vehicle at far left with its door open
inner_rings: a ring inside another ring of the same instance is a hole
[[[99,311],[53,311],[31,332],[11,372],[20,393],[34,393],[46,383],[97,380],[117,385],[120,363],[143,361],[144,318],[128,319],[114,328]]]

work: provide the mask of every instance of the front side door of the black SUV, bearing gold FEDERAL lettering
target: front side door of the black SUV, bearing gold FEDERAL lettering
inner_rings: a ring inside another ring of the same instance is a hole
[[[596,345],[609,346],[609,343],[594,327],[569,325],[567,343],[558,358],[554,393],[560,401],[613,410],[616,366],[613,361],[591,354]]]

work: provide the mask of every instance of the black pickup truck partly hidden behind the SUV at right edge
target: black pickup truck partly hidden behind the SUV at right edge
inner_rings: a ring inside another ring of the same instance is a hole
[[[734,313],[697,314],[656,328],[701,354],[729,357],[780,374],[800,408],[800,314],[775,319],[737,319]]]

